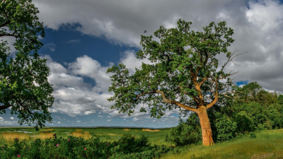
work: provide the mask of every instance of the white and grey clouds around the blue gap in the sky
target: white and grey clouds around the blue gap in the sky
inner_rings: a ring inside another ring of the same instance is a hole
[[[79,23],[81,26],[75,30],[84,35],[105,37],[115,45],[125,45],[143,49],[140,45],[141,34],[153,35],[153,40],[160,42],[154,36],[154,32],[163,25],[166,28],[176,28],[179,18],[191,21],[190,30],[199,31],[212,21],[216,24],[226,21],[226,27],[233,29],[235,42],[228,47],[230,52],[238,50],[236,54],[247,52],[233,59],[224,68],[225,73],[238,73],[229,76],[236,81],[257,81],[266,90],[283,90],[283,45],[282,38],[282,4],[279,1],[76,1],[76,0],[35,0],[35,6],[39,9],[40,21],[45,27],[58,30],[62,24]],[[138,5],[137,5],[138,4]],[[248,7],[246,6],[248,5]],[[106,7],[107,6],[107,7]],[[81,11],[83,8],[83,11]],[[140,8],[146,8],[140,9]],[[71,15],[71,16],[70,16]],[[144,32],[146,29],[146,33]],[[214,30],[213,30],[214,31]],[[40,39],[40,37],[38,37]],[[70,40],[71,42],[79,42]],[[52,42],[45,45],[54,52],[56,45]],[[12,47],[11,47],[12,48]],[[119,63],[126,65],[129,76],[140,69],[141,62],[151,63],[146,59],[137,59],[136,52],[126,50],[121,55]],[[236,55],[234,54],[234,55]],[[114,73],[105,73],[114,63],[101,66],[96,59],[84,55],[77,57],[74,62],[65,66],[52,61],[47,57],[47,66],[51,73],[48,81],[54,88],[54,105],[50,112],[60,112],[71,117],[76,115],[100,114],[103,112],[110,117],[129,118],[127,114],[119,114],[117,110],[110,110],[115,101],[109,102],[107,98],[114,95],[108,92],[110,76]],[[217,54],[219,71],[227,61],[226,54]],[[83,81],[88,77],[96,81],[96,86]],[[221,82],[226,82],[222,80]],[[243,87],[241,85],[240,87]],[[132,114],[133,121],[141,124],[141,119],[152,119],[149,107],[146,113],[140,113],[142,103],[136,106]],[[178,113],[179,109],[166,111],[161,121],[178,122],[171,114]],[[99,116],[98,116],[99,117]],[[1,119],[1,118],[0,118]],[[151,120],[149,122],[157,122]],[[129,122],[129,121],[128,121]],[[149,123],[148,122],[148,123]]]

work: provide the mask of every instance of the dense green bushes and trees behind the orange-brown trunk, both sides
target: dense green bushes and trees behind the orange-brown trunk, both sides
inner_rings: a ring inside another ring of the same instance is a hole
[[[222,103],[217,103],[208,110],[214,141],[229,141],[238,135],[253,131],[283,128],[283,95],[278,95],[276,92],[269,93],[256,82],[248,83],[236,90],[239,91],[242,92],[239,99],[231,100],[224,97],[221,99]],[[258,102],[270,105],[261,105]],[[178,126],[168,132],[166,141],[172,141],[176,146],[201,142],[198,121],[199,118],[195,113],[190,114],[186,122],[180,120]]]

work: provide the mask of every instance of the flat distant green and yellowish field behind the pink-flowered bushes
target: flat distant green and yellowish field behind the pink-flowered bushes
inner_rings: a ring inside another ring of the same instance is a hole
[[[40,128],[39,128],[40,129]],[[120,136],[126,133],[130,133],[133,136],[139,138],[142,134],[149,139],[151,146],[154,144],[160,144],[164,146],[174,146],[171,143],[165,141],[166,132],[168,129],[148,129],[151,131],[143,131],[143,129],[124,129],[124,128],[59,128],[59,127],[42,127],[40,131],[35,131],[33,127],[11,127],[11,128],[0,128],[0,146],[5,143],[8,146],[13,145],[13,139],[19,139],[20,141],[26,139],[28,142],[33,142],[34,139],[48,139],[52,138],[53,134],[56,134],[58,137],[62,136],[62,139],[67,139],[67,136],[81,136],[83,139],[90,139],[91,136],[98,135],[100,136],[100,141],[118,141]],[[129,131],[128,131],[129,130]],[[23,132],[25,131],[25,132]],[[26,133],[28,132],[28,133]]]

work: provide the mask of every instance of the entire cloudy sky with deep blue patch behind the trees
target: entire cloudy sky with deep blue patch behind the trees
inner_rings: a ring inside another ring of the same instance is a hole
[[[54,89],[54,103],[49,109],[52,123],[45,126],[177,126],[179,108],[166,110],[161,119],[150,117],[150,107],[142,102],[131,116],[111,110],[115,100],[109,102],[107,98],[115,95],[108,91],[114,73],[106,71],[122,63],[130,76],[135,68],[141,69],[141,62],[156,64],[149,61],[149,55],[146,59],[136,58],[139,49],[143,50],[141,35],[152,35],[152,40],[160,42],[154,32],[161,25],[176,28],[179,19],[192,22],[190,30],[195,32],[211,22],[226,21],[235,40],[227,49],[232,53],[238,50],[234,56],[241,55],[233,58],[235,64],[229,61],[224,72],[238,71],[229,77],[235,78],[233,83],[239,87],[256,81],[267,91],[283,92],[282,1],[33,0],[32,3],[40,11],[37,16],[45,28],[45,37],[38,36],[44,44],[38,53],[47,59],[48,82]],[[14,57],[16,38],[1,39],[8,41]],[[215,58],[219,60],[216,69],[219,71],[228,58],[223,52]],[[141,107],[147,112],[139,112]],[[17,115],[11,115],[10,110],[0,114],[0,126],[20,125]]]

